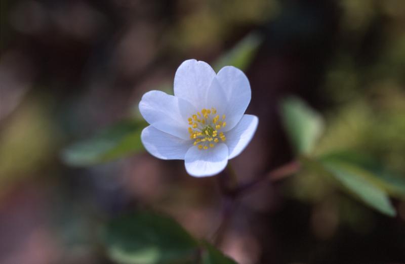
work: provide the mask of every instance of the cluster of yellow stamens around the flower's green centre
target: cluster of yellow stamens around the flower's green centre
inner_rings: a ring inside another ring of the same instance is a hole
[[[198,146],[200,150],[214,148],[220,140],[226,140],[224,133],[220,131],[226,126],[225,115],[222,115],[220,120],[214,107],[211,110],[204,108],[201,113],[192,115],[188,118],[188,124],[190,139],[195,140],[194,146]]]

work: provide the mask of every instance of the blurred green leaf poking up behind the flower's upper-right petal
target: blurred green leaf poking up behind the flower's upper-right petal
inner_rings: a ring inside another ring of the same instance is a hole
[[[246,70],[251,64],[263,39],[258,33],[250,33],[241,39],[231,50],[222,55],[213,63],[218,72],[222,67],[230,65]]]

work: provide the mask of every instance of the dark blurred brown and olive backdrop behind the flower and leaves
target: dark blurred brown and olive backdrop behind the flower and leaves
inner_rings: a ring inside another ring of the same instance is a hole
[[[85,153],[89,166],[63,152],[139,119],[142,94],[172,93],[189,58],[218,70],[231,56],[250,79],[260,123],[230,161],[240,182],[294,159],[279,108],[289,95],[325,120],[315,153],[365,153],[405,177],[401,0],[2,0],[0,15],[0,263],[111,263],[98,227],[139,208],[210,239],[216,177],[141,145],[101,164]],[[405,202],[392,204],[388,217],[311,171],[264,181],[239,197],[219,248],[245,264],[405,263]]]

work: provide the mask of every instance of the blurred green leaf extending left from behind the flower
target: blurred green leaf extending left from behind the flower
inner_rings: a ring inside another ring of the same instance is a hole
[[[62,152],[62,159],[72,166],[89,166],[142,151],[141,132],[146,125],[138,120],[121,121],[69,146]]]

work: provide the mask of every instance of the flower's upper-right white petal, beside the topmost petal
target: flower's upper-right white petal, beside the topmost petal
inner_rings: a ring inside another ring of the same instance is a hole
[[[223,67],[216,77],[223,89],[226,104],[226,127],[232,129],[242,118],[250,103],[251,89],[245,73],[233,66]]]

